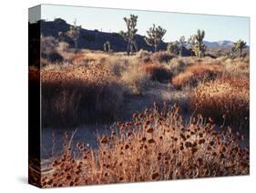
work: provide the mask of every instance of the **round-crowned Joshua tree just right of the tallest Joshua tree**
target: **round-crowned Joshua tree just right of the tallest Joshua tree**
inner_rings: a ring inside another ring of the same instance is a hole
[[[154,46],[155,52],[157,52],[159,44],[161,43],[161,40],[165,33],[166,29],[162,28],[161,26],[156,27],[156,25],[153,25],[147,31],[148,36],[145,37],[145,41],[148,46]]]

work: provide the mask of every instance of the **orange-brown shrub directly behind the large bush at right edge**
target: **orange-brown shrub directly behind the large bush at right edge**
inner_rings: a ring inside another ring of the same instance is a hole
[[[183,73],[171,79],[171,83],[180,89],[185,86],[197,86],[200,82],[207,82],[220,75],[221,69],[218,65],[198,64],[189,66]]]

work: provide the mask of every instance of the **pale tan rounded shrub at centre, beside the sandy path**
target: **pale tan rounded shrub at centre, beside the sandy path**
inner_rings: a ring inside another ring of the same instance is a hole
[[[141,94],[142,90],[148,86],[150,81],[150,75],[140,71],[138,66],[129,66],[121,78],[126,86],[132,88],[133,92],[138,94]]]

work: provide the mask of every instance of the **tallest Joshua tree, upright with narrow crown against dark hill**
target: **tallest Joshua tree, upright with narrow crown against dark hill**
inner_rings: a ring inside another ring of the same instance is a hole
[[[127,53],[129,54],[133,53],[133,47],[135,48],[136,52],[138,51],[138,46],[136,44],[136,33],[138,29],[136,29],[138,15],[130,15],[130,17],[124,17],[124,20],[126,22],[126,25],[128,27],[128,31],[120,31],[120,35],[123,36],[125,41],[128,43],[127,46]]]

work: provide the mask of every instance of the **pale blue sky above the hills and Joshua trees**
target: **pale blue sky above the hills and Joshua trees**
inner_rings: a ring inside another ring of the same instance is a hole
[[[152,12],[123,9],[80,7],[67,5],[42,5],[41,17],[47,21],[63,18],[69,24],[77,19],[77,25],[105,32],[126,30],[124,16],[138,15],[138,34],[146,35],[152,24],[167,29],[164,41],[174,41],[179,36],[189,37],[197,29],[204,29],[205,40],[220,41],[238,39],[250,41],[250,19],[240,16],[193,15],[170,12]]]

